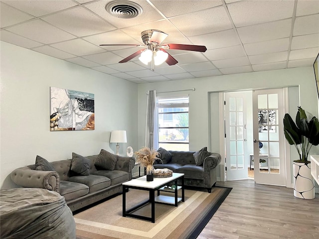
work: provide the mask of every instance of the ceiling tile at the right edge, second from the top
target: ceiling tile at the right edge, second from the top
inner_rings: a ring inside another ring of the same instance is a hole
[[[294,36],[319,32],[319,14],[297,17],[294,25]]]

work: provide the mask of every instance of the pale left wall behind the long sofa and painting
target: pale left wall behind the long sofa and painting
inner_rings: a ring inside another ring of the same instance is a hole
[[[95,94],[95,130],[49,131],[50,86]],[[1,41],[0,187],[11,188],[9,174],[34,164],[116,151],[110,131],[127,130],[126,148],[137,149],[137,84]]]

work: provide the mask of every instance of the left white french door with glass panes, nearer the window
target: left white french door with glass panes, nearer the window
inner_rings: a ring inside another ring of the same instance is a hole
[[[245,179],[247,171],[246,95],[225,93],[225,144],[227,180]]]

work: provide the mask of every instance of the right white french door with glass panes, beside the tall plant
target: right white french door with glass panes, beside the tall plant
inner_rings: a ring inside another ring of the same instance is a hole
[[[255,182],[286,185],[283,89],[253,92]]]

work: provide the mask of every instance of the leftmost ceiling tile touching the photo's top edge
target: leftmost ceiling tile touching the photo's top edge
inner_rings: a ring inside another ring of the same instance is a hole
[[[11,6],[14,6],[22,11],[25,11],[33,16],[43,16],[52,12],[56,12],[77,5],[73,1],[65,0],[6,0],[3,2]]]

